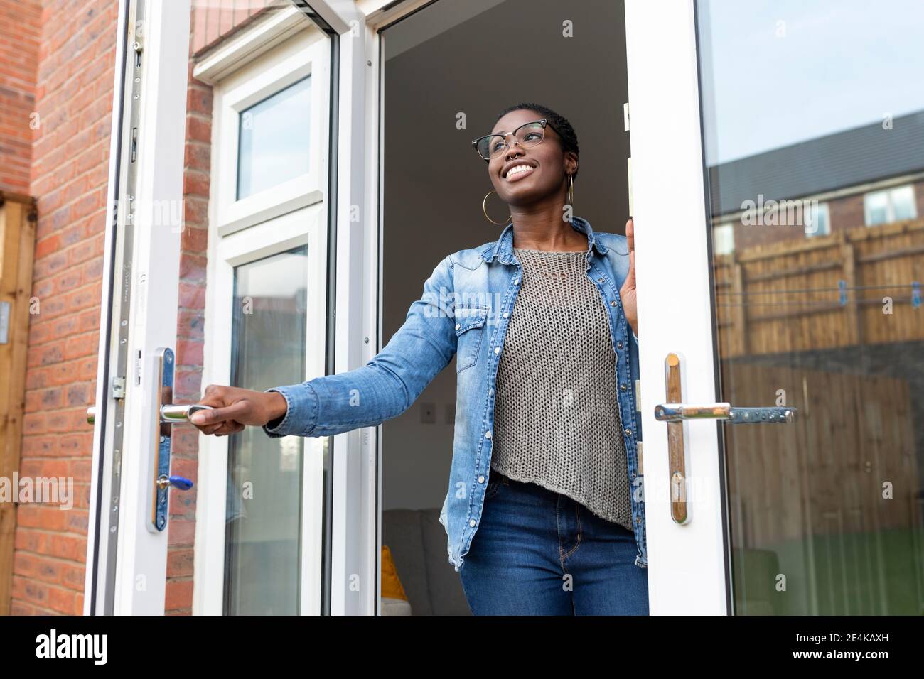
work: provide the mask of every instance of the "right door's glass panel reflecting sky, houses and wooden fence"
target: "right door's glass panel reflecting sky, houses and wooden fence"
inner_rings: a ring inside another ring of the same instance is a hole
[[[924,13],[697,10],[735,612],[919,614]]]

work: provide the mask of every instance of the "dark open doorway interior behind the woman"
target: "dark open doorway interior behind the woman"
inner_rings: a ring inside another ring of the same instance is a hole
[[[541,103],[570,120],[580,143],[575,214],[595,232],[624,233],[622,2],[436,0],[382,38],[383,345],[438,261],[500,235],[503,227],[482,213],[492,187],[470,141],[509,105]],[[505,218],[500,200],[487,208],[493,220]],[[383,575],[383,614],[470,614],[439,523],[453,455],[455,364],[383,424],[382,545],[400,583]]]

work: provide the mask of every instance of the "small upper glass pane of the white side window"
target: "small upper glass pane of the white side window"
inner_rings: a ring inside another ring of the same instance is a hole
[[[311,79],[241,111],[237,200],[309,172]]]

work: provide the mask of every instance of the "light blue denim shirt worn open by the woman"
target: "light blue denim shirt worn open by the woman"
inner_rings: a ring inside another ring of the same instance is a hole
[[[619,298],[629,266],[626,236],[594,233],[580,217],[574,217],[571,225],[588,236],[587,275],[609,311],[632,487],[635,564],[646,568],[645,509],[636,447],[641,441],[636,411],[638,339]],[[269,436],[331,436],[401,415],[455,355],[453,460],[440,523],[446,529],[449,563],[456,571],[481,518],[491,467],[494,381],[521,276],[522,267],[513,253],[513,224],[507,224],[496,241],[458,250],[440,261],[424,282],[421,297],[410,305],[404,324],[366,365],[267,390],[283,394],[288,405],[281,420],[263,427]]]

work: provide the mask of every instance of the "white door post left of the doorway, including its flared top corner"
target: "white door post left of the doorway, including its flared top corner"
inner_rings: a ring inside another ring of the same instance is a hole
[[[340,33],[336,304],[348,311],[337,316],[336,372],[367,363],[385,339],[379,30],[431,1],[310,2]],[[334,436],[332,614],[381,614],[381,460],[381,425]],[[363,585],[367,582],[372,587]]]

